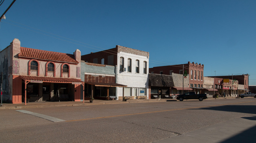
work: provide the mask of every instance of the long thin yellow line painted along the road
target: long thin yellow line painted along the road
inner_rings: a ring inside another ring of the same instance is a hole
[[[68,120],[68,121],[66,121],[66,122],[82,121],[82,120],[91,120],[91,119],[102,119],[102,118],[113,118],[113,117],[122,117],[122,116],[130,116],[130,115],[139,115],[139,114],[148,114],[148,113],[157,113],[157,112],[166,112],[166,111],[184,110],[184,109],[194,109],[194,108],[203,108],[203,107],[221,106],[221,105],[228,105],[228,104],[249,103],[249,102],[256,102],[256,101],[238,102],[238,103],[227,103],[227,104],[218,104],[218,105],[210,105],[210,106],[199,106],[199,107],[190,107],[190,108],[181,108],[181,109],[170,109],[170,110],[161,110],[161,111],[152,111],[152,112],[134,113],[134,114],[124,114],[124,115],[115,115],[115,116],[106,116],[106,117],[97,117],[97,118],[88,118],[88,119],[77,119],[77,120]]]

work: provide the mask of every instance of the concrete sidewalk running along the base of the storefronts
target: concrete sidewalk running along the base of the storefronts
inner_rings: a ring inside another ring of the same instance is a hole
[[[225,97],[231,98],[231,97]],[[220,98],[208,98],[204,100],[210,99],[224,99],[224,97]],[[234,97],[233,97],[234,99]],[[60,107],[60,106],[87,106],[87,105],[102,105],[102,104],[125,104],[125,103],[149,103],[149,102],[166,102],[166,101],[177,101],[176,99],[133,99],[127,100],[126,102],[122,100],[94,100],[93,103],[90,103],[89,100],[83,102],[74,102],[74,101],[66,101],[66,102],[29,102],[27,105],[25,103],[21,104],[11,104],[11,103],[3,103],[3,106],[0,109],[20,109],[20,108],[38,108],[38,107]]]

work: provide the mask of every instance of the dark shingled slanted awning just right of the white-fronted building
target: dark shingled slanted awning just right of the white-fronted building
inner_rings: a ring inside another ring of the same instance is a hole
[[[171,75],[149,73],[149,86],[152,87],[174,87]]]

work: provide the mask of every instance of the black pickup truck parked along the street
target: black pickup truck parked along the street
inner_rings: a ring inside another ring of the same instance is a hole
[[[186,92],[181,95],[177,95],[177,100],[183,101],[184,99],[198,99],[199,101],[203,101],[203,99],[207,99],[207,94],[196,94],[196,92]]]

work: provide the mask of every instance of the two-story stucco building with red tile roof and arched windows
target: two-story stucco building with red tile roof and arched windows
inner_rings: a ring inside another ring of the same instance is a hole
[[[20,46],[14,39],[0,52],[3,100],[83,101],[81,52],[65,54]],[[25,102],[26,104],[26,102]]]

